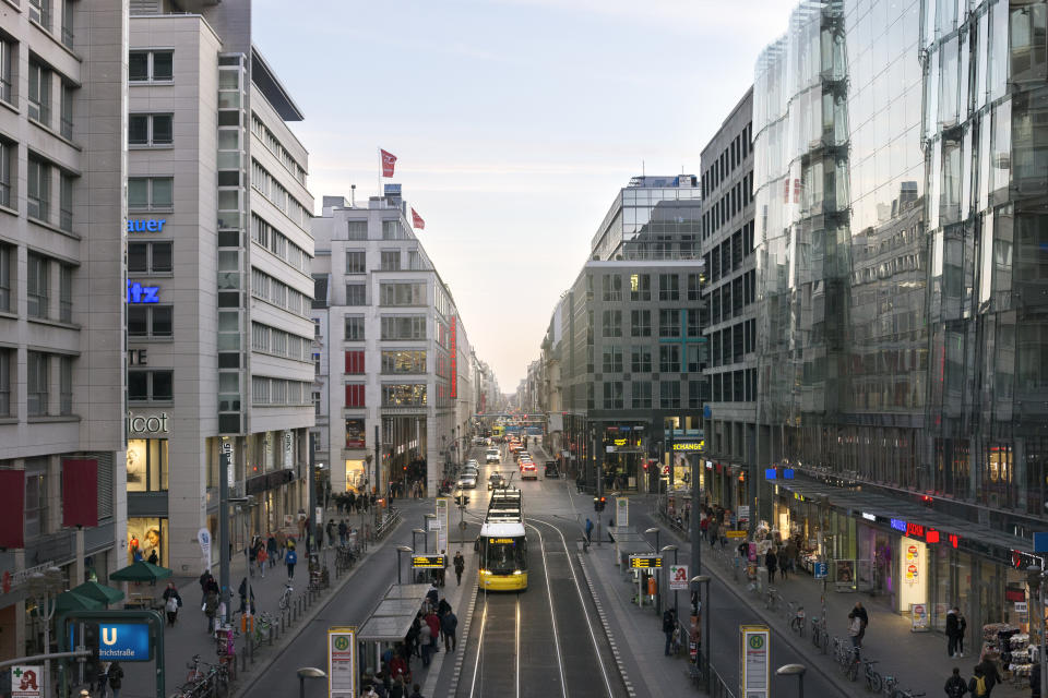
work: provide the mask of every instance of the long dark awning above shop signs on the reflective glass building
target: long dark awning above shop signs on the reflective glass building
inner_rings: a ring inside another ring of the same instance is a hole
[[[989,526],[933,512],[919,504],[900,502],[883,494],[844,489],[813,480],[769,482],[794,498],[818,504],[825,497],[829,506],[846,512],[927,543],[952,545],[1011,565],[1013,551],[1028,552],[1033,542],[1009,535]]]

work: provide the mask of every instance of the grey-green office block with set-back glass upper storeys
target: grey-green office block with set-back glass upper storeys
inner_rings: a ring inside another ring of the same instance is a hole
[[[583,481],[653,492],[690,478],[670,434],[701,429],[706,361],[698,178],[638,177],[616,195],[560,313],[563,444]],[[610,448],[610,450],[608,450]],[[670,469],[669,464],[675,468]]]

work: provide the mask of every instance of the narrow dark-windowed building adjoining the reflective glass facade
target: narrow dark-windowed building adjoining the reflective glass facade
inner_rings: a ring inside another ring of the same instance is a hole
[[[750,88],[702,151],[703,301],[710,313],[703,476],[711,502],[730,509],[752,505],[758,477],[752,134]]]

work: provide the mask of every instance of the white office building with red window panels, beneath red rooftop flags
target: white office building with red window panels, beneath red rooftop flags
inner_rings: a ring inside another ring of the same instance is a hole
[[[366,207],[325,196],[313,219],[314,353],[327,359],[317,390],[326,430],[318,434],[333,492],[370,491],[378,481],[380,496],[391,483],[403,494],[420,481],[433,496],[444,464],[471,436],[468,337],[398,191],[388,185]]]

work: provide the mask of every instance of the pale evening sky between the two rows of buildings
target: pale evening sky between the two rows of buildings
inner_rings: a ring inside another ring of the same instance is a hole
[[[357,201],[395,154],[477,356],[512,393],[618,189],[700,174],[787,0],[255,0],[306,115],[309,189]]]

